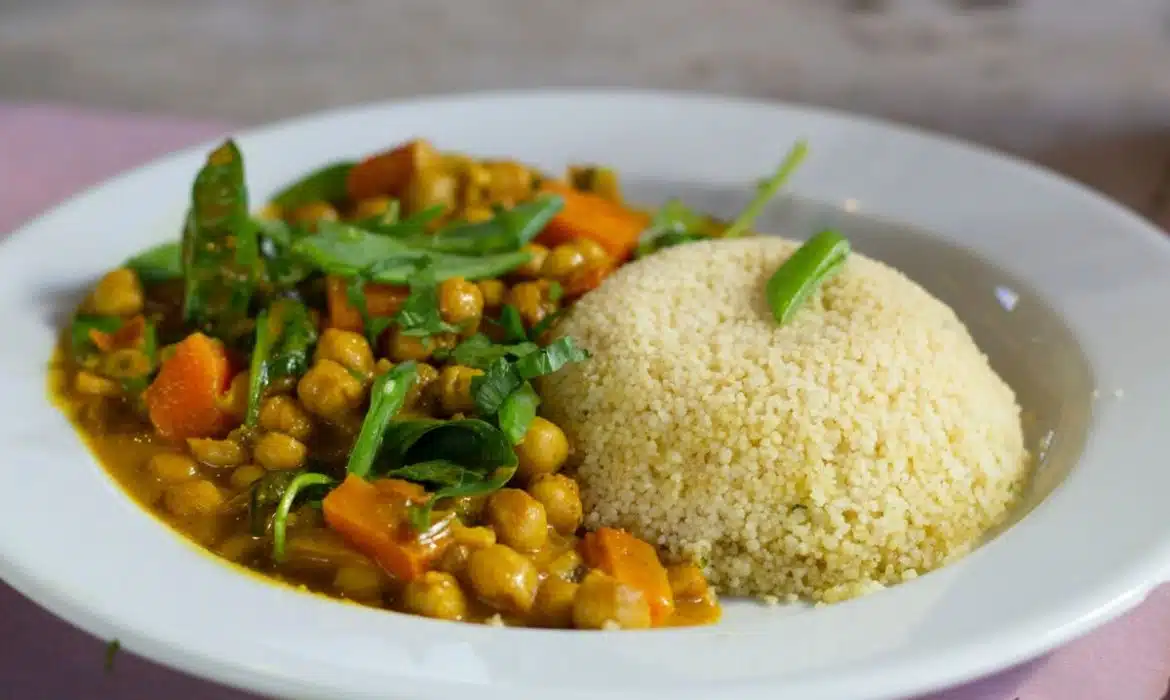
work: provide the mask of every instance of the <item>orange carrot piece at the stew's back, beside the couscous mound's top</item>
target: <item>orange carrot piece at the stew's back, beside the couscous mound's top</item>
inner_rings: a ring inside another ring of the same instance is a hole
[[[628,210],[598,194],[573,190],[564,183],[544,183],[545,192],[559,194],[564,208],[549,221],[536,242],[553,247],[577,239],[597,241],[611,258],[626,260],[638,246],[638,239],[649,225],[649,217]]]

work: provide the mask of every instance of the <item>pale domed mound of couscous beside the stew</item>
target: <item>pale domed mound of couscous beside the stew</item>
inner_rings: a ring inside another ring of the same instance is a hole
[[[542,383],[585,524],[704,565],[731,595],[838,601],[965,554],[1027,475],[1019,407],[965,327],[849,258],[778,328],[797,243],[679,246],[626,266],[559,332],[593,352]]]

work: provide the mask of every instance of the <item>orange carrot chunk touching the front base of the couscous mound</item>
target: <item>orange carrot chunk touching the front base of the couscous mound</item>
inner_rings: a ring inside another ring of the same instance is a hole
[[[651,605],[653,624],[661,625],[674,612],[674,593],[670,592],[666,567],[645,540],[625,530],[600,528],[585,535],[581,556],[591,568],[600,569],[619,583],[641,591]]]

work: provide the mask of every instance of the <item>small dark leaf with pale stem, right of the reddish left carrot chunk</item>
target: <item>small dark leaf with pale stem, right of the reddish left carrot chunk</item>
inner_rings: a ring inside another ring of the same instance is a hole
[[[317,329],[304,304],[281,298],[260,313],[248,368],[248,412],[245,425],[256,425],[264,389],[271,380],[308,371],[316,342]]]

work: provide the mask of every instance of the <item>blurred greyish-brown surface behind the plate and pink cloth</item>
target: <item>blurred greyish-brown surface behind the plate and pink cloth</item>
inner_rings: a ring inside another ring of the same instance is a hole
[[[856,110],[1150,212],[1170,0],[0,0],[0,101],[252,124],[470,89],[633,85]]]

